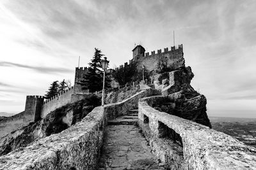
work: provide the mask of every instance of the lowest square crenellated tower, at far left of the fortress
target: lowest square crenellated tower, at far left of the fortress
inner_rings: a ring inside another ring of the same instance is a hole
[[[41,108],[44,104],[43,96],[27,96],[24,122],[36,122],[41,118]]]

